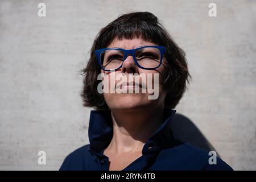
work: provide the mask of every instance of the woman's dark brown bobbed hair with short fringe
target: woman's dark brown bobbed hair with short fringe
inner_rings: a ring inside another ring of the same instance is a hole
[[[101,73],[101,68],[97,63],[94,51],[108,47],[114,38],[121,40],[140,37],[145,41],[167,48],[164,56],[169,67],[163,74],[164,81],[162,82],[163,88],[167,92],[165,107],[169,109],[176,107],[187,88],[186,82],[189,84],[189,78],[191,78],[185,52],[172,40],[166,29],[159,23],[158,18],[149,12],[119,15],[117,19],[98,32],[90,49],[88,64],[81,71],[81,75],[84,76],[84,86],[81,92],[84,106],[109,109],[103,94],[97,92],[97,85],[101,81],[97,80],[97,76]]]

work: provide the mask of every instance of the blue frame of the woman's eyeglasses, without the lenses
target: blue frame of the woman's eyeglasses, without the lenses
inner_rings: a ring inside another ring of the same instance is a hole
[[[139,63],[138,63],[138,61],[136,59],[136,56],[135,56],[135,52],[138,49],[147,48],[147,47],[153,47],[153,48],[158,48],[159,49],[159,51],[160,51],[160,63],[159,63],[159,65],[157,67],[154,67],[154,68],[144,68],[141,65],[139,65]],[[103,68],[103,66],[101,64],[101,53],[103,51],[111,50],[111,49],[123,51],[125,54],[123,55],[122,64],[118,68],[115,68],[115,69],[105,69],[105,68]],[[156,68],[160,67],[160,65],[162,64],[162,61],[163,61],[163,57],[164,57],[164,52],[165,51],[166,51],[166,47],[164,47],[164,46],[142,46],[142,47],[137,47],[135,49],[122,49],[122,48],[115,48],[115,47],[113,47],[113,48],[102,48],[102,49],[95,50],[94,53],[95,53],[95,55],[97,57],[98,64],[100,65],[101,69],[103,69],[104,71],[115,71],[117,69],[122,68],[123,62],[126,60],[127,56],[129,56],[129,55],[133,56],[133,60],[135,61],[137,67],[142,68],[142,69],[151,70],[151,69],[156,69]]]

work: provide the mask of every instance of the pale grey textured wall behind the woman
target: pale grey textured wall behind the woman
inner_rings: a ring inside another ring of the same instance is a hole
[[[37,15],[46,3],[46,17]],[[210,2],[217,17],[208,16]],[[193,80],[176,107],[234,169],[256,169],[256,1],[0,1],[0,169],[59,169],[88,143],[79,96],[97,32],[151,11],[187,53]],[[38,164],[38,151],[47,164]]]

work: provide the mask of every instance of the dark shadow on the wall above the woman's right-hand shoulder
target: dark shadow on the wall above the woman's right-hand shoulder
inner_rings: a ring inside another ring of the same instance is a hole
[[[207,151],[216,151],[196,125],[184,115],[175,113],[170,122],[170,127],[176,139],[201,147]],[[217,156],[220,156],[217,151],[216,153]]]

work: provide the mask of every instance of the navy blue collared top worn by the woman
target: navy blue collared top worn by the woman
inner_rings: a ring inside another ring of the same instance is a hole
[[[176,110],[164,110],[164,122],[144,144],[142,156],[123,171],[140,170],[233,170],[217,157],[216,164],[209,164],[212,155],[199,147],[176,140],[169,123]],[[89,142],[69,154],[60,170],[109,171],[109,158],[104,149],[113,136],[110,110],[92,110],[89,121]]]

